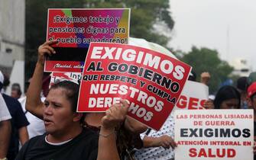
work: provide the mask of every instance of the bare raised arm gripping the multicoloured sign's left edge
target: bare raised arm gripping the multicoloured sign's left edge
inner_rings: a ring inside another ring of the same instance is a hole
[[[53,43],[57,43],[57,41],[47,41],[38,47],[37,64],[27,92],[26,110],[41,119],[43,118],[43,103],[41,102],[40,94],[44,75],[44,59],[47,54],[51,55],[56,53],[53,47],[50,46]]]

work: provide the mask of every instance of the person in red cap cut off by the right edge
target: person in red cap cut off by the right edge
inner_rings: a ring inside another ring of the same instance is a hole
[[[256,160],[256,82],[253,82],[247,90],[248,107],[254,110],[254,160]]]

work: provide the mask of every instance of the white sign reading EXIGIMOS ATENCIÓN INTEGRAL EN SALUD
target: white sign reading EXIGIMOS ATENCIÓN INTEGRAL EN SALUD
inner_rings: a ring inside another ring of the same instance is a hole
[[[253,159],[253,110],[175,110],[174,115],[175,159]]]

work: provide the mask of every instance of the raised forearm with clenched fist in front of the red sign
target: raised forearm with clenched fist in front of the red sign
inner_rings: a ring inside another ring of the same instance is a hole
[[[127,101],[114,104],[102,117],[102,127],[99,132],[99,149],[97,160],[119,160],[115,139],[115,127],[125,120],[128,112]]]

